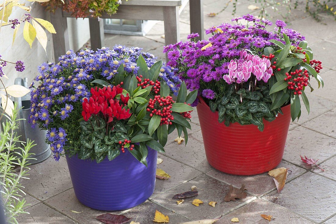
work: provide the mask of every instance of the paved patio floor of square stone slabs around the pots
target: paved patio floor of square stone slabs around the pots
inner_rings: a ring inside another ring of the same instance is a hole
[[[204,0],[204,27],[229,22],[232,18],[230,8],[215,17],[207,17],[210,12],[223,8],[223,0]],[[248,9],[254,1],[240,1],[237,14],[258,14],[257,10]],[[303,8],[303,6],[302,6]],[[285,9],[281,9],[285,11]],[[273,22],[280,19],[277,12],[269,9]],[[295,14],[295,15],[294,15]],[[278,17],[278,18],[277,18]],[[271,223],[336,223],[336,63],[332,55],[336,52],[336,22],[332,17],[323,15],[322,23],[316,22],[303,10],[293,11],[290,28],[301,32],[314,51],[314,58],[323,61],[321,76],[325,81],[323,90],[317,89],[308,93],[311,113],[302,110],[298,122],[291,123],[287,137],[285,154],[279,167],[291,170],[287,182],[279,194],[273,178],[267,173],[254,176],[235,176],[221,173],[213,169],[207,162],[200,130],[197,111],[192,113],[192,130],[188,144],[177,145],[175,134],[169,136],[166,154],[159,154],[163,162],[158,168],[171,175],[169,180],[156,180],[155,192],[145,203],[127,211],[113,214],[123,214],[130,221],[141,224],[154,223],[155,210],[169,216],[169,223],[177,224],[199,219],[223,217],[216,224],[232,223],[232,218],[240,222],[268,223],[260,214],[274,217]],[[181,39],[185,40],[190,25],[188,6],[180,17]],[[317,31],[318,30],[318,31]],[[144,51],[163,58],[164,39],[162,35],[163,22],[158,22],[145,36],[123,36],[106,34],[106,46],[123,44],[137,45]],[[335,78],[335,79],[333,79]],[[315,83],[314,83],[315,84]],[[319,164],[325,171],[301,162],[300,155],[319,159]],[[44,162],[30,166],[30,180],[25,180],[23,186],[27,193],[26,200],[31,204],[27,208],[30,215],[19,218],[19,223],[81,223],[98,224],[94,217],[105,213],[89,209],[75,197],[66,160],[59,162],[50,157]],[[231,202],[223,202],[228,192],[228,186],[236,187],[245,184],[248,196]],[[204,201],[199,207],[191,204],[194,199],[186,199],[177,205],[172,196],[191,189],[199,188],[198,199]],[[203,189],[203,190],[201,190]],[[215,207],[208,205],[216,201]],[[81,213],[71,212],[77,211]]]

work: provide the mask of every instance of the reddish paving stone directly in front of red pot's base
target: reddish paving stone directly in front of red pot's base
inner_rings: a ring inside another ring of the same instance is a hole
[[[305,172],[305,169],[295,166],[286,161],[281,161],[281,163],[276,168],[280,167],[285,167],[290,170],[288,171],[287,181],[290,181]],[[213,169],[206,174],[224,183],[232,184],[233,186],[238,188],[240,188],[242,184],[245,184],[247,191],[258,197],[276,188],[274,180],[270,175],[268,175],[268,172],[253,176],[237,176]]]

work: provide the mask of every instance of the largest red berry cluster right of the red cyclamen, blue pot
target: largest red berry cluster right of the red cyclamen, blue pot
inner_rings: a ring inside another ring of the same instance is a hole
[[[174,117],[171,115],[173,111],[171,111],[172,103],[174,103],[174,100],[171,96],[160,97],[160,95],[157,95],[154,97],[154,99],[149,99],[148,108],[147,111],[151,111],[150,116],[153,117],[154,114],[161,116],[161,123],[163,124],[172,124],[172,120],[174,120]],[[171,120],[171,121],[168,121]]]

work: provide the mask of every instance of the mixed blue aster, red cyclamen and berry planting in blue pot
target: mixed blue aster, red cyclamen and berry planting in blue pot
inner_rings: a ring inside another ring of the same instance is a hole
[[[68,51],[59,63],[39,67],[29,122],[47,130],[55,160],[77,154],[99,163],[129,150],[146,165],[147,147],[164,152],[175,128],[187,138],[197,91],[187,94],[174,69],[155,59],[138,47],[116,45]]]

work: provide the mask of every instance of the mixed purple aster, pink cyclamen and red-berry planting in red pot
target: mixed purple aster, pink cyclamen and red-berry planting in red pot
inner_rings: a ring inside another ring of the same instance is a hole
[[[165,47],[168,65],[187,89],[199,90],[196,106],[204,100],[211,111],[218,111],[218,121],[226,126],[238,122],[254,124],[263,131],[263,119],[273,121],[281,107],[291,104],[294,121],[301,115],[300,97],[309,113],[305,89],[313,90],[310,78],[324,85],[319,75],[322,62],[313,53],[304,36],[287,29],[277,20],[273,32],[268,20],[251,14],[206,30],[208,40],[188,41]],[[245,25],[243,25],[245,24]]]

